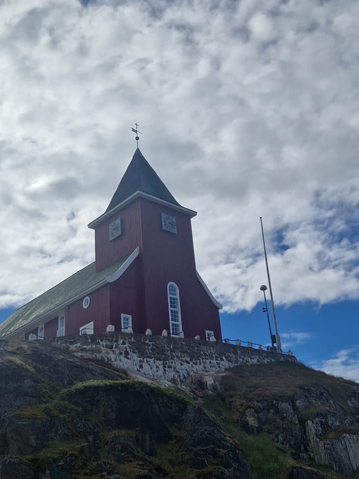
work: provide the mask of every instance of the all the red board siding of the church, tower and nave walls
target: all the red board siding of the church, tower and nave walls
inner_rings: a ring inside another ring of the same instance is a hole
[[[162,230],[161,213],[176,217],[177,234]],[[121,218],[122,235],[109,241],[108,226]],[[211,330],[221,339],[219,312],[196,276],[190,218],[171,207],[137,199],[96,228],[96,270],[130,254],[140,246],[140,255],[115,282],[90,293],[65,309],[65,335],[79,334],[93,321],[94,332],[105,332],[109,324],[121,329],[121,313],[131,314],[135,332],[150,328],[154,334],[170,332],[167,285],[179,287],[182,330],[185,337]],[[56,337],[58,318],[44,325],[44,338]]]

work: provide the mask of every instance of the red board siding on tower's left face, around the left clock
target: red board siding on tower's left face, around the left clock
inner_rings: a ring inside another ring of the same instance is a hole
[[[121,236],[109,240],[109,224],[121,218]],[[96,271],[118,261],[141,246],[140,200],[137,199],[105,220],[95,230]]]

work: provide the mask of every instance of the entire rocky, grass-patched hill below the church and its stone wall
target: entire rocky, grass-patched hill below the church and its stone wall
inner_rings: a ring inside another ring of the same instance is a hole
[[[73,478],[81,471],[108,479],[252,479],[247,460],[258,470],[243,429],[251,445],[265,433],[256,447],[265,438],[271,458],[284,452],[276,475],[268,468],[260,479],[277,479],[278,471],[286,479],[327,479],[314,463],[346,476],[359,471],[356,383],[295,361],[171,382],[167,372],[163,380],[131,380],[111,364],[46,343],[0,347],[0,479],[47,478],[50,464]]]

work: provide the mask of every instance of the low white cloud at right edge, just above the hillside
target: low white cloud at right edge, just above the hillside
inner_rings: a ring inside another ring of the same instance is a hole
[[[332,358],[321,363],[312,364],[316,369],[340,376],[345,379],[351,379],[359,383],[359,350],[358,346],[342,349]]]

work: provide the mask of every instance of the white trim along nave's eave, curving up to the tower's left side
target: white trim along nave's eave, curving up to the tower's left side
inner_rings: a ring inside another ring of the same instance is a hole
[[[126,259],[126,261],[122,264],[122,266],[119,267],[117,271],[115,271],[113,274],[110,276],[106,276],[104,279],[99,281],[98,283],[94,284],[91,286],[91,288],[85,289],[82,291],[80,294],[76,294],[76,296],[73,296],[72,298],[68,299],[67,301],[59,304],[56,306],[56,308],[51,309],[45,314],[42,314],[41,316],[38,316],[37,318],[33,319],[31,322],[27,323],[25,326],[22,326],[21,328],[17,328],[14,331],[11,331],[11,333],[8,333],[3,337],[3,339],[6,338],[11,338],[14,335],[17,335],[21,333],[22,331],[27,331],[29,327],[33,326],[36,327],[36,325],[40,323],[45,323],[47,321],[50,321],[51,319],[56,316],[56,313],[63,310],[66,306],[74,303],[75,301],[78,301],[79,299],[83,298],[84,296],[87,296],[88,294],[92,293],[93,291],[96,291],[100,287],[104,286],[107,283],[112,283],[113,281],[116,281],[125,271],[126,269],[130,266],[132,261],[139,255],[140,253],[140,248],[137,246],[137,248],[130,254],[130,256]],[[55,286],[54,286],[55,287]],[[32,328],[32,329],[33,329]]]

